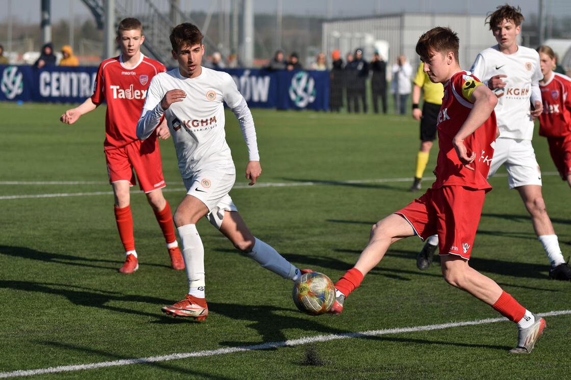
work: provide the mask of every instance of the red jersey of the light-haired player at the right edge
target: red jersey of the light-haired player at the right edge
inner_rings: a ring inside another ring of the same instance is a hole
[[[571,134],[571,78],[553,72],[541,89],[543,112],[539,116],[539,134],[546,137],[563,137]]]

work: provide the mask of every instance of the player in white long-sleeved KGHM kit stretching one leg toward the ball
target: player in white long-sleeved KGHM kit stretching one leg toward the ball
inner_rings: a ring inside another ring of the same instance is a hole
[[[226,72],[200,66],[203,35],[195,25],[182,23],[170,35],[172,56],[179,67],[156,75],[137,124],[137,136],[146,139],[164,115],[175,144],[180,174],[187,194],[176,208],[174,223],[183,246],[188,277],[186,298],[162,311],[175,317],[204,320],[204,247],[196,222],[206,216],[236,248],[284,278],[295,281],[301,273],[274,248],[254,237],[240,217],[228,192],[236,169],[224,134],[224,102],[236,115],[248,147],[246,178],[254,185],[262,168],[254,120],[246,100]]]

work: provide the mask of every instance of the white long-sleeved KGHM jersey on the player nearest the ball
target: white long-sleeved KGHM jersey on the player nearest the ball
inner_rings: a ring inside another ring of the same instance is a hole
[[[224,132],[223,102],[239,119],[250,160],[259,160],[254,122],[246,100],[229,74],[206,67],[196,78],[180,75],[179,68],[152,78],[137,126],[139,138],[146,138],[154,130],[163,112],[160,101],[174,89],[186,92],[186,98],[172,103],[164,116],[183,178],[191,177],[197,169],[234,165]]]

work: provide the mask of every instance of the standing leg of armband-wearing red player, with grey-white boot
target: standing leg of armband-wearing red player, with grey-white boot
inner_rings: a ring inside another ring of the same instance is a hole
[[[517,324],[518,342],[510,353],[529,353],[545,328],[545,320],[521,306],[495,281],[468,265],[456,255],[441,257],[442,274],[448,284],[472,294]]]

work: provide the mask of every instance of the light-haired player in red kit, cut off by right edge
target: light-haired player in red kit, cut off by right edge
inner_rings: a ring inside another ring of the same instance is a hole
[[[571,78],[553,71],[556,56],[552,48],[543,45],[537,52],[543,74],[539,82],[543,101],[539,134],[547,138],[557,171],[571,187]]]

